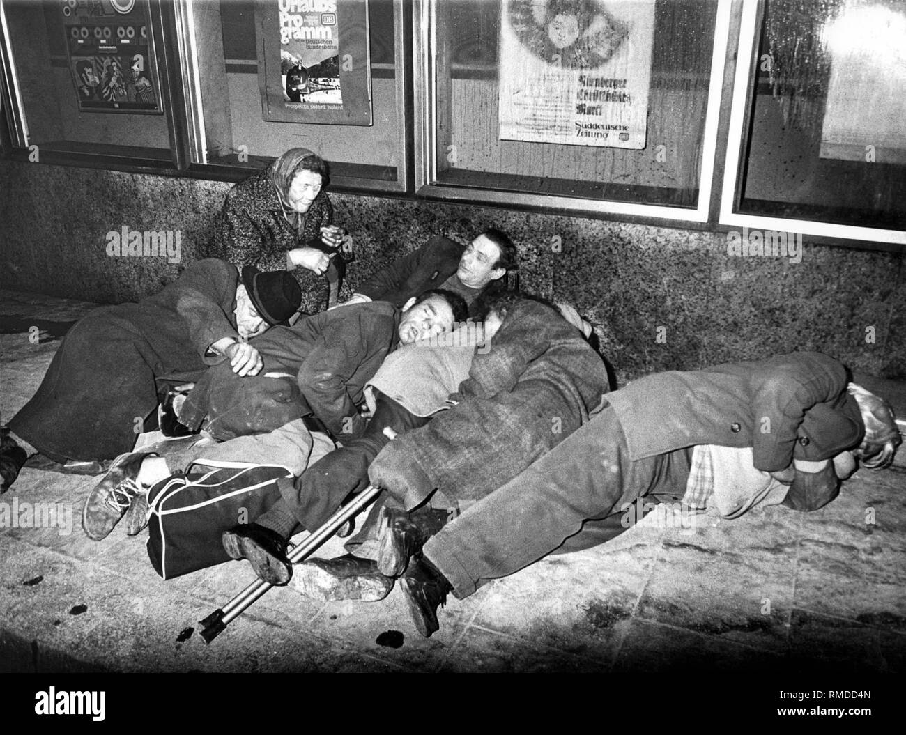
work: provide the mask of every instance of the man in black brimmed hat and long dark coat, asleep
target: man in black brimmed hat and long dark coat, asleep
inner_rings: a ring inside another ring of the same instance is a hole
[[[260,360],[246,339],[285,323],[301,299],[285,272],[207,259],[147,299],[93,310],[66,334],[11,434],[4,430],[3,489],[34,451],[59,463],[128,452],[162,383],[197,380],[214,365],[238,383],[254,380]]]

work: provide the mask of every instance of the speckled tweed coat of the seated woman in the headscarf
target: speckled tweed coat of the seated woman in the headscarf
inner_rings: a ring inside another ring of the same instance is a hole
[[[287,251],[297,247],[325,249],[321,228],[328,224],[333,224],[333,205],[322,189],[305,213],[302,233],[297,233],[284,217],[265,168],[229,190],[211,227],[207,255],[238,266],[254,265],[261,271],[285,271]],[[342,268],[339,256],[333,262]],[[330,291],[327,279],[302,267],[294,269],[293,275],[302,287],[301,310],[316,314],[326,309]]]

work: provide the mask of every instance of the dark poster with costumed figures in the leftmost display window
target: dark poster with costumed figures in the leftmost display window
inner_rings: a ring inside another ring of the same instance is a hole
[[[147,0],[62,0],[82,112],[162,114]]]

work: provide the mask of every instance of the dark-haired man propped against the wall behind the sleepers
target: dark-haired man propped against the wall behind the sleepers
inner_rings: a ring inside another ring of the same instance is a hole
[[[390,301],[400,307],[423,291],[446,289],[462,296],[474,317],[478,297],[506,288],[506,273],[517,267],[516,246],[499,230],[486,230],[465,247],[438,235],[375,273],[346,303]]]

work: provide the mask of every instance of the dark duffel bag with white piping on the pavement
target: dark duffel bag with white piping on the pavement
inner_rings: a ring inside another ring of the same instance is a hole
[[[280,500],[285,467],[197,460],[148,493],[148,556],[164,579],[229,561],[225,530],[251,523]]]

